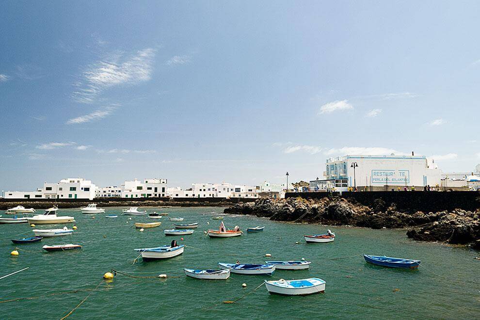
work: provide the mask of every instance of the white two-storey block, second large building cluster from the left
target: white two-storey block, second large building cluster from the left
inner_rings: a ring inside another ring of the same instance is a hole
[[[137,178],[122,185],[122,198],[160,198],[167,196],[167,179],[151,178],[143,182]]]

